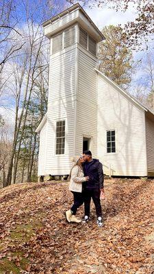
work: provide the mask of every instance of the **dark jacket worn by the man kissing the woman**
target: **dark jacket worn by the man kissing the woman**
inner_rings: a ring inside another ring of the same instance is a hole
[[[84,175],[90,177],[90,179],[84,183],[84,187],[103,188],[103,165],[99,160],[93,159],[92,162],[84,162]]]

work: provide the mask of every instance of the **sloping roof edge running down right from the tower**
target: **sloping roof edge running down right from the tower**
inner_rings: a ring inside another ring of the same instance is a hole
[[[146,107],[146,105],[144,105],[143,103],[140,103],[140,101],[138,101],[138,99],[136,99],[135,97],[133,97],[133,95],[130,95],[129,92],[127,92],[126,90],[123,90],[123,88],[120,88],[120,86],[118,86],[118,84],[116,84],[114,81],[112,81],[109,77],[105,76],[103,73],[101,73],[101,71],[99,71],[98,69],[95,69],[95,71],[97,71],[97,73],[99,73],[99,75],[101,75],[101,77],[108,82],[109,84],[111,84],[114,88],[116,88],[116,90],[119,90],[121,93],[125,94],[129,99],[131,99],[131,101],[133,101],[133,103],[136,103],[137,105],[140,106],[140,108],[142,108],[144,111],[146,112],[150,112],[151,114],[153,114],[154,116],[154,112],[152,110],[150,110],[149,108]]]

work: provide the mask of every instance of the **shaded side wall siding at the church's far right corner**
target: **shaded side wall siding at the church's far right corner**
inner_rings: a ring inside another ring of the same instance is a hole
[[[146,154],[148,175],[154,175],[154,122],[149,118],[146,121]]]

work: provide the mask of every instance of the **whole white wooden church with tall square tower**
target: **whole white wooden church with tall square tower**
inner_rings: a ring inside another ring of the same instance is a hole
[[[103,34],[79,4],[43,27],[51,49],[38,176],[68,175],[86,149],[106,175],[153,176],[154,114],[97,69]]]

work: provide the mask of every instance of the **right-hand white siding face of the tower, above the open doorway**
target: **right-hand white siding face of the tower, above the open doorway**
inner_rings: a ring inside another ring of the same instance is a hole
[[[97,155],[96,61],[78,51],[77,154],[82,153],[83,137],[92,138],[92,153]]]

